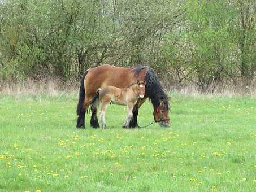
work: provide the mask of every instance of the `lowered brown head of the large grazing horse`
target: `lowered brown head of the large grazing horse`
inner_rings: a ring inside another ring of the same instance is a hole
[[[163,99],[160,101],[159,106],[154,109],[154,119],[160,126],[169,126],[170,119],[168,101],[164,102]]]

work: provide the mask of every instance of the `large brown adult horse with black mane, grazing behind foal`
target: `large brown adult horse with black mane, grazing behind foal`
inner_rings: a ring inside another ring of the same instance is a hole
[[[99,88],[109,85],[117,88],[125,88],[137,79],[146,82],[145,95],[144,99],[137,102],[133,107],[132,120],[129,122],[129,126],[126,126],[125,128],[138,127],[138,110],[145,102],[146,98],[149,98],[150,102],[153,104],[155,122],[158,122],[160,126],[169,126],[169,99],[157,74],[152,68],[146,66],[124,68],[102,65],[88,69],[81,78],[79,101],[76,108],[76,113],[78,115],[76,127],[85,128],[85,112],[88,111],[88,108],[90,107],[92,112],[90,125],[93,128],[99,128],[97,117],[99,103],[96,101],[92,102],[92,99]]]

